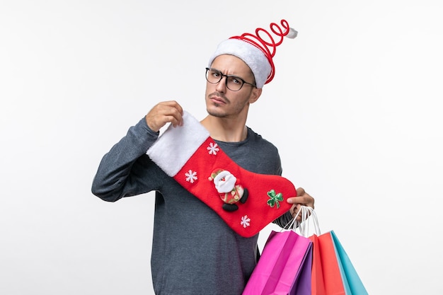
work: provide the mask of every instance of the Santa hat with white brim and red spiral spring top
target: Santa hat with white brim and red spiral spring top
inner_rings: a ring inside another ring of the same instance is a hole
[[[254,74],[255,85],[263,88],[263,85],[274,79],[275,66],[272,57],[275,56],[277,46],[283,42],[283,37],[294,39],[297,31],[289,28],[286,20],[280,21],[281,27],[277,23],[270,24],[271,32],[278,37],[276,41],[271,33],[263,28],[257,28],[255,35],[243,33],[240,36],[233,36],[221,42],[217,50],[209,59],[209,67],[216,57],[222,54],[231,54],[243,60]],[[262,35],[265,35],[262,37]]]

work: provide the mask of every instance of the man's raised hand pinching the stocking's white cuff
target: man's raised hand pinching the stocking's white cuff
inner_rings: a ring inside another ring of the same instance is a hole
[[[173,127],[183,124],[183,108],[175,101],[163,101],[158,103],[146,115],[146,124],[154,132],[159,132],[161,127],[171,123]]]

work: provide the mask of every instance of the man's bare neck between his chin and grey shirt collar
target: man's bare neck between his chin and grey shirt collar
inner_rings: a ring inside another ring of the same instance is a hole
[[[246,120],[231,120],[208,115],[200,123],[209,131],[212,139],[225,142],[238,142],[246,139]]]

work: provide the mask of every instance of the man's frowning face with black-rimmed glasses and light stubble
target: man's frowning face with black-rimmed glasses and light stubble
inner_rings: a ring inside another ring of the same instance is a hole
[[[248,83],[254,83],[251,69],[238,57],[223,54],[214,59],[212,69],[217,69],[224,75],[238,76]],[[226,87],[226,77],[219,83],[206,83],[206,108],[209,115],[214,117],[237,117],[247,115],[248,106],[260,96],[261,89],[249,84],[243,84],[239,91],[231,91]]]

